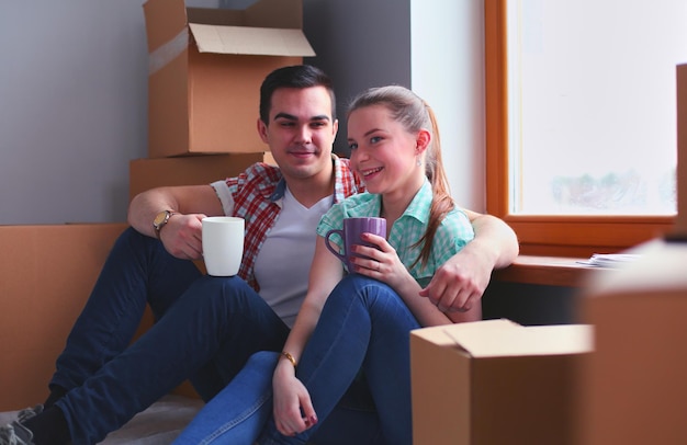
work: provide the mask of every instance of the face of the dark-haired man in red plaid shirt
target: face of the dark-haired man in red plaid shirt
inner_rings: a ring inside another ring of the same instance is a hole
[[[331,147],[338,122],[324,87],[280,88],[272,94],[269,123],[258,132],[286,180],[331,174]]]

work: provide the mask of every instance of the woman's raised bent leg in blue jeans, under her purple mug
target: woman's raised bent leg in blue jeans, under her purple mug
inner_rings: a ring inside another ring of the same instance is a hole
[[[375,324],[385,318],[388,320],[384,320],[383,324]],[[396,322],[399,326],[396,326]],[[337,285],[327,299],[317,328],[303,352],[296,374],[308,389],[320,424],[328,429],[333,427],[328,424],[328,415],[351,386],[363,364],[367,377],[368,357],[381,353],[382,347],[392,347],[392,351],[384,353],[383,357],[372,362],[374,368],[371,368],[374,376],[384,372],[390,373],[388,381],[381,384],[386,385],[392,391],[401,392],[398,397],[392,397],[401,400],[401,406],[390,407],[392,411],[384,413],[384,418],[388,419],[382,422],[384,438],[386,443],[394,445],[412,442],[409,377],[407,391],[393,386],[406,381],[403,376],[396,378],[396,374],[409,376],[409,368],[396,366],[407,363],[409,352],[405,347],[408,344],[410,326],[417,327],[417,322],[396,293],[385,284],[361,275],[348,275]],[[374,351],[370,351],[371,346]],[[384,361],[387,363],[383,363]],[[380,366],[384,370],[378,370]],[[379,397],[386,397],[388,391],[379,392],[378,388],[374,388],[376,384],[378,381],[369,381],[373,397],[375,393],[379,393]],[[391,404],[384,399],[380,401],[384,406]],[[378,406],[378,414],[382,414],[376,397],[374,402]],[[401,417],[394,418],[398,413]],[[317,437],[318,427],[319,425],[316,425],[295,437],[285,437],[277,432],[273,421],[270,421],[260,444],[304,444],[308,438]],[[339,434],[345,435],[354,429],[356,425],[341,425]]]

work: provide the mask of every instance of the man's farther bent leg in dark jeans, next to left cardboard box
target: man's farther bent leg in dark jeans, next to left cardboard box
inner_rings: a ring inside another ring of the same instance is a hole
[[[57,358],[49,386],[64,391],[80,386],[128,346],[146,303],[159,318],[200,276],[192,262],[173,258],[158,240],[126,229]]]

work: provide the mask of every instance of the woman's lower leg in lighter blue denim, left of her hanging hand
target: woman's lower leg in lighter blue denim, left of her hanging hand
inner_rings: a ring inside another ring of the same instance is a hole
[[[195,415],[174,444],[251,445],[272,412],[278,352],[254,354],[240,373]]]

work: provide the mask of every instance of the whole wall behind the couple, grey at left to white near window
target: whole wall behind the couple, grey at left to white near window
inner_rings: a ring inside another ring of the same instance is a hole
[[[0,2],[0,225],[125,220],[128,162],[147,156],[143,2]],[[333,77],[339,110],[363,88],[412,78],[439,114],[444,150],[457,147],[447,155],[457,201],[483,210],[482,1],[304,0],[304,8],[318,54],[308,61]],[[448,21],[440,35],[438,20]]]

